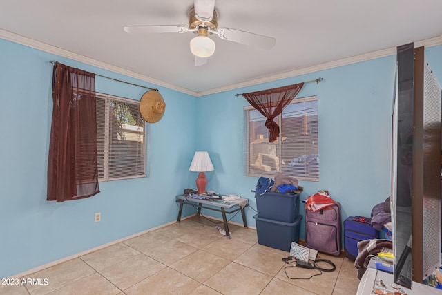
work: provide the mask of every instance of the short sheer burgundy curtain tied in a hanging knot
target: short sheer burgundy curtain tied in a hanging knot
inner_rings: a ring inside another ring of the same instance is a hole
[[[302,86],[304,86],[304,83],[242,94],[253,108],[256,108],[267,118],[265,126],[270,132],[269,142],[274,142],[279,136],[279,126],[273,120],[282,113],[282,110],[291,102],[291,99],[298,95]]]

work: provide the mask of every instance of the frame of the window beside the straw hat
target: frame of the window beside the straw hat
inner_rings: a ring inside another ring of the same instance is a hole
[[[104,170],[104,175],[103,177],[99,177],[98,181],[99,182],[109,182],[109,181],[114,181],[114,180],[125,180],[125,179],[133,179],[133,178],[145,178],[145,177],[149,177],[150,173],[149,173],[149,150],[150,150],[150,145],[149,145],[149,129],[150,129],[150,124],[148,122],[146,122],[143,117],[140,115],[140,120],[142,120],[142,122],[144,122],[143,127],[143,145],[144,145],[144,153],[143,153],[143,164],[144,164],[144,171],[142,174],[139,175],[130,175],[130,176],[122,176],[122,177],[109,177],[109,161],[110,161],[110,153],[109,153],[109,148],[111,146],[111,139],[110,139],[110,130],[111,130],[111,119],[110,117],[107,115],[108,114],[108,110],[111,107],[111,101],[115,100],[117,102],[125,102],[128,104],[133,104],[133,105],[137,105],[138,107],[140,106],[140,101],[139,100],[135,100],[135,99],[128,99],[125,97],[119,97],[119,96],[115,96],[115,95],[110,95],[107,93],[99,93],[96,92],[95,96],[97,97],[97,99],[104,99],[104,151],[103,151],[103,155],[104,155],[104,162],[103,162],[103,170]],[[99,115],[97,112],[97,121],[99,120]],[[98,135],[98,132],[97,132]],[[98,140],[97,140],[97,152],[100,153],[99,151],[99,146],[98,146]]]

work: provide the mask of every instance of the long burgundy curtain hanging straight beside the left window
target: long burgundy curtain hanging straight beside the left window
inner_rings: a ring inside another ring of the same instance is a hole
[[[99,193],[95,74],[58,62],[52,74],[48,201]]]

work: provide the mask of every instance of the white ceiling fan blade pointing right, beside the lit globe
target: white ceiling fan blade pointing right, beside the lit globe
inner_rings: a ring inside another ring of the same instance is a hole
[[[256,46],[262,49],[271,49],[276,44],[276,39],[263,35],[253,34],[231,28],[218,28],[218,36],[227,41]]]

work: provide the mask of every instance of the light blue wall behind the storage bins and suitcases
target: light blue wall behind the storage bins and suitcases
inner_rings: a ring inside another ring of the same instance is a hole
[[[251,206],[256,208],[251,189],[258,179],[244,176],[243,107],[248,103],[242,97],[235,97],[235,93],[323,77],[320,84],[305,84],[298,94],[298,97],[318,97],[320,155],[319,182],[301,181],[304,187],[301,198],[327,189],[342,204],[343,220],[350,215],[369,216],[375,204],[390,196],[395,62],[394,56],[384,57],[202,97],[198,106],[204,114],[201,117],[204,124],[198,125],[198,132],[205,137],[198,146],[215,158],[211,188],[250,198]],[[253,215],[249,210],[247,217],[251,223]],[[304,226],[302,220],[301,237],[305,236]]]

